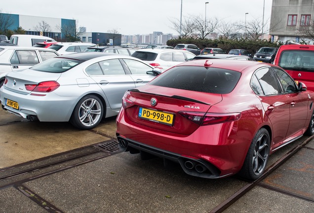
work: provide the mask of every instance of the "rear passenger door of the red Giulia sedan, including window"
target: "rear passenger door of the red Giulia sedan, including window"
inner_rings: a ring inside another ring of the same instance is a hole
[[[290,122],[290,102],[282,93],[274,73],[270,68],[255,72],[251,87],[261,100],[267,118],[272,124],[273,145],[283,142]]]

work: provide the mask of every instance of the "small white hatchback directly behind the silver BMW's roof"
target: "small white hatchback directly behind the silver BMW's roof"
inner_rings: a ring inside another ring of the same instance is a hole
[[[87,47],[97,46],[94,43],[81,43],[81,42],[59,42],[47,47],[57,51],[60,55],[66,55],[76,52],[83,52]]]

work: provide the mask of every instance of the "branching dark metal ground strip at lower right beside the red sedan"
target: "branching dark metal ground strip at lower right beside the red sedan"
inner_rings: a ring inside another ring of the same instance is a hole
[[[300,195],[291,193],[291,192],[287,192],[284,191],[282,189],[278,189],[278,188],[274,188],[268,185],[265,185],[263,183],[261,183],[265,178],[267,178],[271,173],[273,173],[278,167],[280,167],[284,162],[286,162],[288,159],[290,159],[294,154],[296,154],[301,148],[308,148],[305,147],[305,145],[307,143],[309,143],[312,139],[314,138],[314,136],[306,139],[304,142],[302,142],[299,145],[296,145],[291,151],[289,151],[288,153],[286,153],[284,156],[282,156],[279,160],[277,160],[273,165],[271,165],[267,170],[265,170],[264,174],[258,178],[257,180],[253,181],[253,182],[248,182],[246,185],[244,185],[242,188],[240,188],[238,191],[236,191],[236,193],[234,193],[231,197],[229,197],[227,200],[225,200],[224,202],[222,202],[220,205],[218,205],[216,208],[214,208],[213,210],[210,211],[210,213],[222,213],[225,210],[227,210],[231,205],[233,205],[234,203],[236,203],[236,201],[238,199],[240,199],[241,197],[243,197],[247,192],[249,192],[251,189],[253,189],[255,186],[260,186],[260,187],[264,187],[270,190],[274,190],[276,192],[282,193],[282,194],[286,194],[292,197],[296,197],[299,199],[303,199],[306,201],[310,201],[310,202],[314,202],[313,199],[309,199],[306,197],[302,197]],[[310,148],[311,149],[311,148]],[[245,179],[241,179],[244,181],[247,181]]]

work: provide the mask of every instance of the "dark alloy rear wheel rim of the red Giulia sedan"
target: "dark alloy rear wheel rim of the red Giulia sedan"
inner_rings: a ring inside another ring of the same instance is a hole
[[[259,176],[264,172],[269,155],[269,137],[262,134],[254,147],[252,168],[255,175]]]

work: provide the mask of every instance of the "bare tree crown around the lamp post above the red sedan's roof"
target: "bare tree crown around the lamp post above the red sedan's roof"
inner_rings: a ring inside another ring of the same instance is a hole
[[[197,38],[205,39],[206,36],[213,33],[218,28],[218,19],[213,18],[209,20],[205,20],[203,18],[199,18],[200,16],[191,16],[190,19],[193,21],[193,34],[196,35]]]

